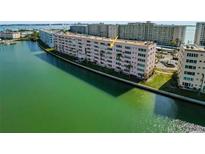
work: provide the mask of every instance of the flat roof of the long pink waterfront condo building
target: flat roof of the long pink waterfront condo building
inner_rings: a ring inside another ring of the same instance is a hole
[[[85,34],[75,34],[71,32],[66,32],[66,33],[56,33],[57,35],[62,35],[62,36],[73,36],[77,38],[87,38],[91,39],[94,41],[106,41],[106,42],[111,42],[114,39],[111,38],[106,38],[106,37],[98,37],[98,36],[93,36],[93,35],[85,35]],[[128,44],[128,45],[138,45],[138,46],[145,46],[148,47],[150,45],[154,45],[154,42],[151,41],[133,41],[133,40],[123,40],[123,39],[117,39],[115,43],[122,43],[122,44]]]

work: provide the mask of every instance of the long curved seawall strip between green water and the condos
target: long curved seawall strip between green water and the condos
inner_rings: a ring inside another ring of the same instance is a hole
[[[152,87],[149,87],[149,86],[145,86],[143,84],[135,83],[133,81],[129,81],[129,80],[126,80],[126,79],[123,79],[123,78],[120,78],[120,77],[116,77],[116,76],[104,73],[102,71],[95,70],[93,68],[89,68],[89,67],[84,66],[82,64],[79,64],[79,63],[76,63],[74,61],[68,60],[68,59],[66,59],[66,58],[64,58],[64,57],[62,57],[60,55],[57,55],[57,54],[53,53],[52,51],[46,50],[46,48],[44,48],[42,45],[40,45],[39,42],[38,42],[38,45],[46,53],[51,54],[51,55],[55,56],[56,58],[59,58],[59,59],[65,61],[65,62],[71,63],[71,64],[73,64],[75,66],[80,67],[80,68],[84,68],[84,69],[86,69],[88,71],[100,74],[100,75],[105,76],[105,77],[109,77],[111,79],[114,79],[114,80],[117,80],[117,81],[120,81],[120,82],[123,82],[123,83],[127,83],[127,84],[132,85],[134,87],[137,87],[139,89],[143,89],[143,90],[155,93],[155,94],[160,94],[160,95],[163,95],[163,96],[166,96],[166,97],[182,100],[182,101],[189,102],[189,103],[195,103],[195,104],[198,104],[198,105],[203,105],[203,106],[205,105],[205,101],[189,98],[189,97],[186,97],[186,96],[177,95],[177,94],[166,92],[166,91],[162,91],[162,90],[157,90],[155,88],[152,88]]]

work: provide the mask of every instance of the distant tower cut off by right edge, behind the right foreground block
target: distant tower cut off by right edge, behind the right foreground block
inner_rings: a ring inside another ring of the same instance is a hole
[[[199,46],[205,46],[205,22],[196,23],[194,43]]]

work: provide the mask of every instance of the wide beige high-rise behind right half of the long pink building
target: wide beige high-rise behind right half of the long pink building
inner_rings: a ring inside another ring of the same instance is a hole
[[[151,22],[128,23],[119,26],[119,37],[131,40],[155,41],[159,45],[184,43],[186,26],[158,25]]]

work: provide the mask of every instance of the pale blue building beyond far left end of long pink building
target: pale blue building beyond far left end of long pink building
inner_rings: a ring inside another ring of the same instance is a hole
[[[53,30],[40,30],[39,31],[39,35],[40,35],[40,39],[43,43],[45,43],[46,45],[48,45],[50,48],[54,47],[54,33],[56,31]]]

